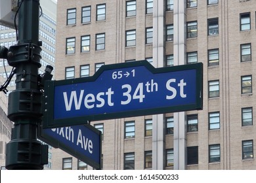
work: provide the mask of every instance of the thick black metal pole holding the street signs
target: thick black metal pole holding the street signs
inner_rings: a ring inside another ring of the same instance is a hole
[[[16,90],[9,94],[8,118],[14,122],[7,144],[7,169],[43,169],[48,163],[48,146],[37,141],[41,123],[43,93],[38,86],[41,44],[39,42],[39,0],[21,0],[18,9],[18,44],[7,54],[16,67]]]

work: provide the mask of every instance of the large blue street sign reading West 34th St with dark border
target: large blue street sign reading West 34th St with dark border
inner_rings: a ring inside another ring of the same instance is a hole
[[[43,127],[202,109],[202,63],[103,65],[94,76],[47,81]]]

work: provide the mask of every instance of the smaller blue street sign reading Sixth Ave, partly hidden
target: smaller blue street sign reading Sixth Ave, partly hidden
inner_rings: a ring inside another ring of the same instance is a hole
[[[53,129],[39,128],[38,138],[95,169],[101,168],[101,132],[89,124]]]

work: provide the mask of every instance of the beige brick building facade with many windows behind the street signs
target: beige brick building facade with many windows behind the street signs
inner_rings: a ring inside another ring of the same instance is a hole
[[[56,80],[126,61],[203,63],[203,110],[91,122],[103,169],[256,168],[255,9],[253,0],[58,1]],[[92,169],[55,149],[52,168]]]

